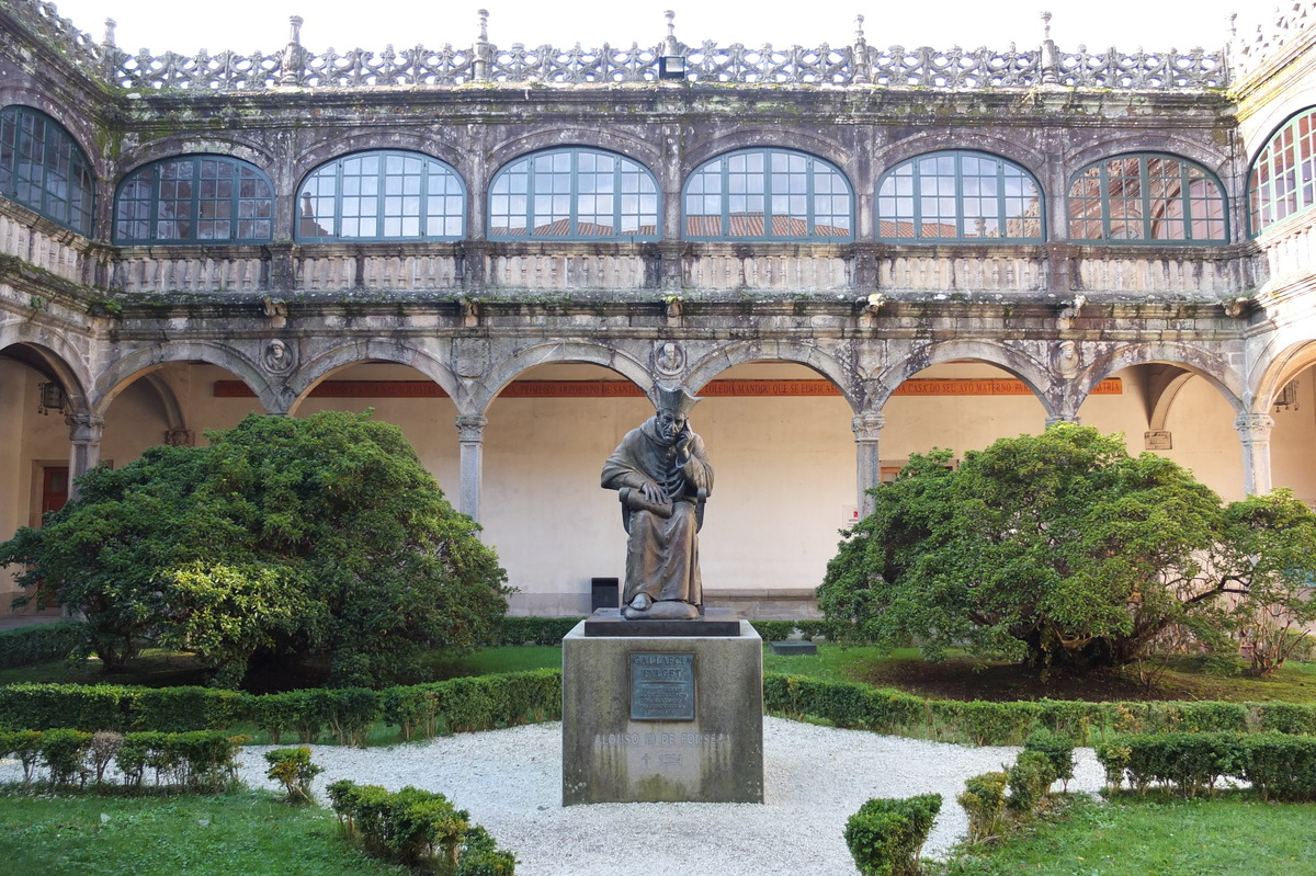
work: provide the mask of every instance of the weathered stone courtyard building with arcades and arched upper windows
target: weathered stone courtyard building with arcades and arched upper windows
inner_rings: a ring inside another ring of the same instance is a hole
[[[1316,3],[1220,50],[130,55],[0,0],[0,537],[249,412],[399,425],[520,588],[705,401],[711,605],[812,609],[912,452],[1082,421],[1316,502]],[[13,584],[0,583],[0,613]]]

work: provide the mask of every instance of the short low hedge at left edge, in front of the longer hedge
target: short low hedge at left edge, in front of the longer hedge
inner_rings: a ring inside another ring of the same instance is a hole
[[[22,763],[24,784],[45,767],[57,788],[109,784],[107,768],[118,767],[124,787],[141,788],[151,775],[158,788],[215,791],[237,781],[237,755],[246,737],[218,730],[191,733],[87,733],[53,730],[0,731],[0,758]]]

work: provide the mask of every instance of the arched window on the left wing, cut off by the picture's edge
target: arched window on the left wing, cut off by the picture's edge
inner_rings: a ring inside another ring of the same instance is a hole
[[[0,109],[0,195],[91,237],[96,176],[87,154],[50,116]]]

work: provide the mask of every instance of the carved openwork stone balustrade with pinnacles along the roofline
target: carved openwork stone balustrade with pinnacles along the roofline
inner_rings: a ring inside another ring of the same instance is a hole
[[[1304,0],[1305,1],[1305,0]],[[129,91],[259,91],[278,87],[366,88],[379,85],[440,85],[468,83],[617,84],[657,82],[659,61],[679,61],[690,82],[771,85],[875,85],[891,88],[986,89],[1038,85],[1117,89],[1204,89],[1229,84],[1225,51],[1120,51],[1100,49],[1061,51],[1044,38],[1033,46],[1009,45],[948,50],[869,46],[862,16],[854,37],[841,45],[746,46],[715,42],[687,45],[675,37],[669,17],[667,38],[654,46],[570,49],[488,41],[480,13],[479,37],[470,46],[430,49],[422,45],[383,51],[351,49],[311,51],[301,45],[301,18],[292,18],[288,43],[275,53],[221,51],[129,54],[113,42],[113,24],[96,43],[43,0],[8,0],[11,14],[38,38],[55,46],[79,68]],[[1303,5],[1299,3],[1298,5]],[[1049,21],[1049,16],[1044,14]],[[1249,59],[1262,49],[1249,45]]]

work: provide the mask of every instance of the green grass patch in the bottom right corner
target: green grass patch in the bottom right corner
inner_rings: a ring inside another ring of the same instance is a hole
[[[1075,796],[1059,817],[998,847],[965,855],[938,876],[1296,876],[1313,872],[1316,805]]]

